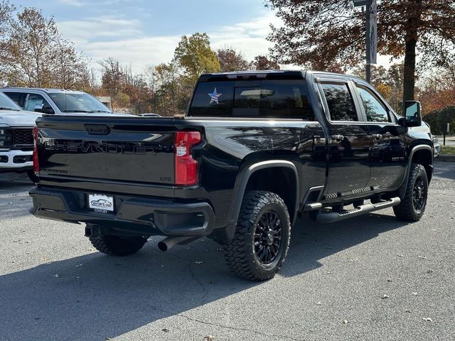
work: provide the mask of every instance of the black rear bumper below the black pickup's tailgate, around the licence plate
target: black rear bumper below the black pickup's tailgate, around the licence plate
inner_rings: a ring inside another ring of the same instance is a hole
[[[215,222],[208,202],[113,195],[115,212],[101,213],[87,208],[88,192],[35,187],[29,195],[30,212],[36,217],[100,224],[120,232],[196,237],[210,234]]]

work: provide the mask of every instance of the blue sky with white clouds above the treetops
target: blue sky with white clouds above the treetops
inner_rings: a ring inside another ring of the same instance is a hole
[[[141,72],[171,60],[183,34],[208,33],[213,48],[242,51],[247,59],[267,53],[269,23],[279,23],[263,0],[48,0],[12,1],[53,16],[60,33],[96,67],[117,58]]]

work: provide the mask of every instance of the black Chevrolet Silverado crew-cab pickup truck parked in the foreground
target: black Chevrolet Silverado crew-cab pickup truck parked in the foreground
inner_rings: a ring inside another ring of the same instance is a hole
[[[85,223],[117,256],[152,235],[163,251],[206,236],[236,274],[265,280],[301,215],[422,217],[433,140],[419,102],[405,112],[355,77],[268,71],[202,75],[186,117],[45,116],[31,213]]]

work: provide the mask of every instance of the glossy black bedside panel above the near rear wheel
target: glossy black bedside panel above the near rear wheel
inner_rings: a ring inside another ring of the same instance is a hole
[[[324,185],[326,139],[321,124],[299,119],[188,119],[176,120],[176,129],[203,127],[205,144],[193,149],[200,161],[200,187],[176,189],[176,197],[206,197],[215,210],[216,227],[231,221],[237,200],[233,188],[242,170],[260,161],[286,160],[299,174],[299,200],[306,191]],[[274,179],[269,179],[274,181]]]

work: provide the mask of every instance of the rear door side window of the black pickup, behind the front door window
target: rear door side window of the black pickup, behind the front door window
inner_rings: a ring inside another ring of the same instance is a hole
[[[347,83],[323,83],[321,87],[331,121],[358,121],[354,99]]]

